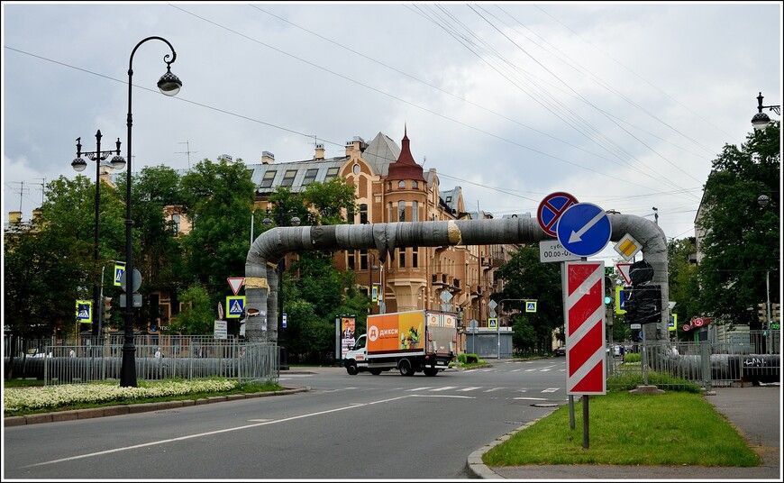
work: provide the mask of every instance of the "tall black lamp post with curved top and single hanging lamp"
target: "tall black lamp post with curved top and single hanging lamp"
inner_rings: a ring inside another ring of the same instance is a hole
[[[133,125],[131,96],[133,88],[133,55],[142,43],[153,40],[165,42],[171,50],[171,60],[169,60],[169,54],[163,56],[163,61],[166,62],[166,73],[158,80],[160,92],[166,96],[177,96],[179,89],[182,87],[182,82],[179,78],[171,73],[171,64],[177,59],[177,52],[174,51],[174,47],[172,47],[169,41],[163,37],[153,36],[147,37],[136,44],[136,47],[131,51],[131,59],[128,61],[128,170],[125,178],[125,337],[123,342],[123,366],[120,369],[120,387],[137,386],[136,346],[133,342],[133,220],[131,219],[131,160],[133,159],[131,156],[131,133]]]

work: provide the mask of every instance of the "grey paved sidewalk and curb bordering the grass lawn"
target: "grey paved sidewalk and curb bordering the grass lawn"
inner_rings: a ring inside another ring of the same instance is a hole
[[[715,394],[714,394],[715,393]],[[506,438],[498,439],[469,455],[467,467],[476,478],[486,479],[761,479],[781,481],[781,387],[721,387],[705,396],[725,415],[760,456],[753,468],[700,466],[531,465],[488,467],[482,454]],[[520,428],[520,429],[524,429]],[[517,431],[520,431],[518,429]],[[710,444],[710,442],[706,442]],[[677,449],[673,449],[677,451]]]

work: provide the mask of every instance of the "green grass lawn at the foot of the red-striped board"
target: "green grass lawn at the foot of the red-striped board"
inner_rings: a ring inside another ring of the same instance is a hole
[[[759,466],[743,437],[700,394],[588,399],[588,448],[583,449],[582,400],[574,397],[574,429],[564,405],[486,452],[488,466],[538,464]]]

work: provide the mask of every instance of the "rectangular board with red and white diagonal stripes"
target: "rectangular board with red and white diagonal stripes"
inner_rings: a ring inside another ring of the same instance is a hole
[[[566,261],[566,390],[606,394],[604,262]]]

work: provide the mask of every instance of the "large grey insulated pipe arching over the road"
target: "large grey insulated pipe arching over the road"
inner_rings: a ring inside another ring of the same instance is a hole
[[[626,234],[641,244],[645,260],[653,267],[652,284],[661,286],[662,307],[667,285],[667,241],[661,228],[631,214],[607,214],[611,241]],[[278,261],[291,251],[378,250],[381,263],[394,259],[395,249],[457,245],[497,245],[552,240],[536,219],[511,217],[489,220],[337,224],[276,227],[253,241],[245,261],[245,308],[248,342],[278,342]],[[669,314],[662,310],[659,324],[647,324],[646,336],[666,340]],[[649,334],[650,333],[650,334]]]

